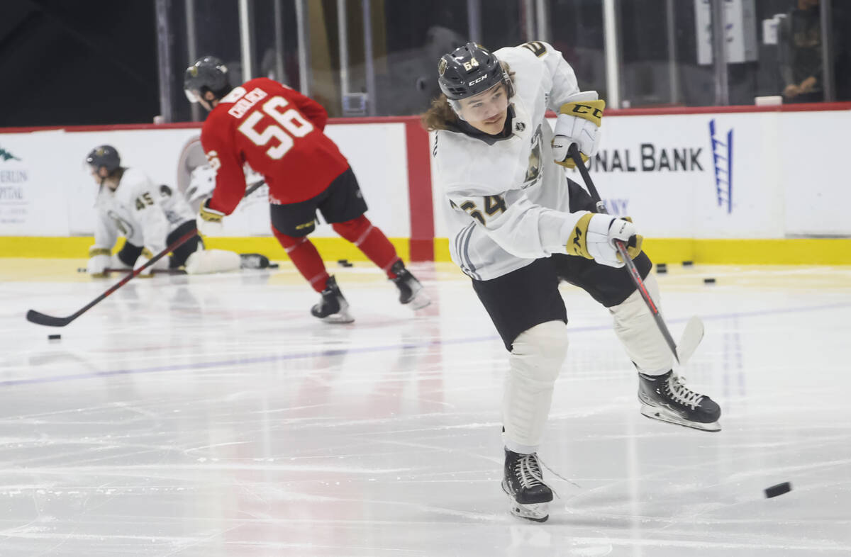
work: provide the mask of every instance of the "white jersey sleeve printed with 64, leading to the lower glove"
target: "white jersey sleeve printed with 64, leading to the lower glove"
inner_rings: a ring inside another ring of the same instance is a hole
[[[538,259],[568,253],[567,242],[576,222],[587,213],[564,213],[531,202],[523,190],[488,195],[477,187],[450,187],[449,205],[466,213],[506,252],[519,258]]]

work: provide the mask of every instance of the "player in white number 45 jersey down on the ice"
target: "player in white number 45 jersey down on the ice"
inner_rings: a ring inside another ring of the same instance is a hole
[[[154,185],[141,170],[122,167],[121,157],[111,145],[95,147],[86,163],[100,185],[94,246],[89,248],[86,268],[91,276],[106,276],[108,269],[138,269],[153,254],[196,230],[195,213],[186,199],[167,185]],[[127,241],[112,255],[119,235]],[[237,270],[240,263],[238,253],[205,250],[201,236],[196,235],[140,275],[180,267],[190,274],[214,273]]]

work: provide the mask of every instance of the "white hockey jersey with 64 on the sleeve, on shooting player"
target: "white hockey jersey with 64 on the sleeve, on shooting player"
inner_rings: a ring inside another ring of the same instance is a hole
[[[569,213],[567,178],[553,162],[545,120],[548,108],[557,111],[579,92],[573,68],[540,41],[494,54],[514,74],[513,134],[486,142],[438,130],[432,150],[452,260],[479,281],[567,253],[570,231],[586,213]]]

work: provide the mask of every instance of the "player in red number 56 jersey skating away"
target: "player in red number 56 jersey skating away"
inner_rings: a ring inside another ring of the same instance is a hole
[[[216,171],[213,196],[200,207],[198,230],[220,229],[221,219],[237,207],[245,193],[247,162],[269,186],[272,232],[322,294],[312,315],[329,322],[354,321],[334,276],[307,238],[316,228],[317,210],[337,234],[386,272],[402,304],[414,310],[429,304],[420,281],[364,215],[367,205],[349,162],[323,134],[328,112],[322,105],[266,77],[231,88],[226,66],[214,56],[203,56],[186,69],[184,89],[191,102],[209,111],[201,145]]]

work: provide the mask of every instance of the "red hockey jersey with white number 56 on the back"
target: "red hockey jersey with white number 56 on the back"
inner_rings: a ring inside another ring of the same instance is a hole
[[[209,207],[233,212],[245,195],[243,164],[266,178],[269,202],[303,202],[322,193],[349,162],[323,134],[328,112],[315,100],[266,77],[221,99],[201,130],[216,171]]]

